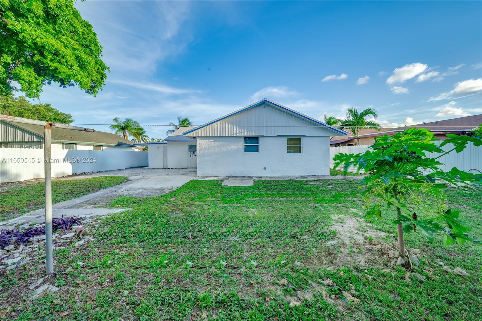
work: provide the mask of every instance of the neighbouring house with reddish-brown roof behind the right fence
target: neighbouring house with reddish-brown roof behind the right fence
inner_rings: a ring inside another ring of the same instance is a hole
[[[471,130],[479,127],[482,123],[482,114],[459,117],[447,120],[437,120],[432,122],[424,122],[421,124],[397,127],[392,129],[385,129],[381,131],[376,130],[362,130],[360,134],[360,145],[372,145],[375,143],[375,137],[383,135],[393,135],[398,132],[403,132],[410,127],[427,128],[435,134],[435,138],[447,139],[446,134],[462,134],[468,133]],[[371,131],[371,132],[370,132]],[[330,147],[338,146],[352,146],[357,145],[357,139],[353,135],[349,136],[336,136],[330,140]]]

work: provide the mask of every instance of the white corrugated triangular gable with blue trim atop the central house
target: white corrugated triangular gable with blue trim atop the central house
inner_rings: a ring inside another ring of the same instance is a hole
[[[348,133],[268,99],[260,100],[184,133],[185,136],[311,135]]]

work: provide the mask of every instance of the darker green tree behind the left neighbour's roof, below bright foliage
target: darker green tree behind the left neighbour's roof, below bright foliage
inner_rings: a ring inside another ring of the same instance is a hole
[[[70,124],[74,121],[72,115],[60,112],[58,109],[50,106],[50,104],[32,104],[25,96],[16,98],[13,96],[1,96],[0,99],[0,113],[3,115],[61,124]]]

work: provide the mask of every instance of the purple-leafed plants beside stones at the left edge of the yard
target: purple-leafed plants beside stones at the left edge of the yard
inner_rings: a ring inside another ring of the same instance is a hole
[[[56,218],[52,220],[52,231],[56,231],[61,229],[66,231],[70,227],[80,224],[80,220],[83,217],[67,217],[64,218],[64,215],[60,218]],[[45,222],[43,223],[45,224]],[[40,236],[45,234],[45,226],[42,227],[28,227],[25,228],[23,231],[20,230],[12,230],[10,228],[4,228],[1,230],[1,247],[5,247],[13,242],[17,244],[26,243],[28,239],[33,238],[35,236]]]

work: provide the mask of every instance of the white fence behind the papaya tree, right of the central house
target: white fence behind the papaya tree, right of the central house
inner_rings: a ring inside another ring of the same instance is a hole
[[[440,143],[441,142],[436,142],[437,145],[440,145]],[[447,144],[442,146],[442,150],[449,151],[453,147],[453,145]],[[333,157],[338,153],[358,154],[368,149],[370,149],[369,145],[330,147],[330,167],[333,168]],[[427,153],[427,157],[435,158],[441,154],[442,153]],[[443,163],[440,169],[445,172],[456,167],[461,171],[480,174],[482,173],[482,147],[475,147],[472,143],[469,143],[462,152],[457,153],[455,150],[451,151],[438,159],[438,161]],[[338,169],[343,170],[342,167]],[[348,169],[348,172],[356,172],[356,169],[352,166]]]

